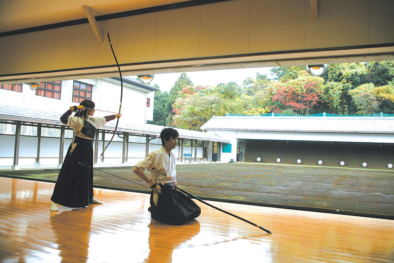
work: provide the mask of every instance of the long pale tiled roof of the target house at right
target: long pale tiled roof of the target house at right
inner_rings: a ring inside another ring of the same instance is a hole
[[[393,117],[214,116],[202,130],[394,133]]]

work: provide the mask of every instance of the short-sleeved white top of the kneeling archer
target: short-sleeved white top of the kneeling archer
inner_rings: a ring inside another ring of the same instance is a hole
[[[151,177],[158,183],[174,183],[177,181],[177,171],[175,170],[176,160],[173,153],[168,155],[167,151],[162,146],[156,151],[149,153],[147,158],[136,164],[136,167],[145,171],[153,168]]]

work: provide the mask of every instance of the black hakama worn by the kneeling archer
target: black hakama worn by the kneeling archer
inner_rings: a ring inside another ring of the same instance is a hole
[[[174,183],[160,187],[162,192],[159,194],[157,206],[153,203],[153,191],[151,192],[151,207],[148,210],[154,220],[167,225],[182,225],[201,214],[200,207],[175,190]]]

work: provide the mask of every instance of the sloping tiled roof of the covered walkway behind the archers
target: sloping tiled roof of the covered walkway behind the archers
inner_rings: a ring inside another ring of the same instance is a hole
[[[22,122],[33,122],[33,123],[45,123],[52,125],[63,125],[60,121],[60,116],[64,112],[49,112],[44,110],[35,110],[31,108],[21,108],[10,105],[0,104],[0,120],[12,120],[12,121],[22,121]],[[108,122],[100,129],[113,131],[115,129],[115,121]],[[117,131],[121,132],[132,132],[136,134],[149,134],[149,135],[160,135],[164,126],[152,125],[152,124],[138,124],[119,121]],[[211,133],[190,131],[186,129],[177,129],[179,132],[179,138],[186,139],[197,139],[197,140],[208,140],[214,142],[225,142],[229,141]]]

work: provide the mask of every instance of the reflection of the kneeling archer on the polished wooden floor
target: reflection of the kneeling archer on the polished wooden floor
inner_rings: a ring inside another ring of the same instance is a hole
[[[173,250],[200,232],[200,223],[195,219],[182,226],[164,225],[152,219],[148,227],[150,252],[145,263],[172,262]]]

